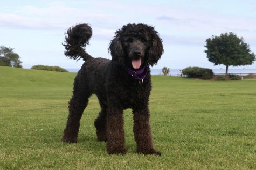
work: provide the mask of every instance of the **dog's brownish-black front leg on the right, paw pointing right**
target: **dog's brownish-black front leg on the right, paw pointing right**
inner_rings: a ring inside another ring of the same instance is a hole
[[[133,119],[133,132],[137,143],[137,153],[161,156],[161,153],[153,147],[148,108],[143,111],[133,110]]]

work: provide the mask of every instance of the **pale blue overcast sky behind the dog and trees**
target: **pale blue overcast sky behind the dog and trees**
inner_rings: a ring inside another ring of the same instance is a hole
[[[164,46],[154,68],[224,68],[207,60],[204,45],[207,38],[225,32],[243,37],[256,54],[255,0],[1,1],[0,46],[15,48],[24,68],[80,68],[82,60],[65,57],[61,45],[67,28],[78,23],[93,29],[87,52],[104,58],[111,58],[107,48],[116,29],[128,23],[154,26]],[[256,69],[256,62],[239,68],[244,67]]]

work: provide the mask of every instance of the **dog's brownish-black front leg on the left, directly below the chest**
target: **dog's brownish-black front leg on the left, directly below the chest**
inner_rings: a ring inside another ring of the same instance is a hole
[[[108,153],[126,154],[123,111],[121,109],[107,109],[106,128]]]

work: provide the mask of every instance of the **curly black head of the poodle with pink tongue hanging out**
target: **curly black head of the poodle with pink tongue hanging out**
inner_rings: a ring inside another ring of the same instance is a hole
[[[162,39],[154,27],[146,24],[128,24],[117,30],[108,51],[113,62],[137,70],[153,66],[163,54]]]

